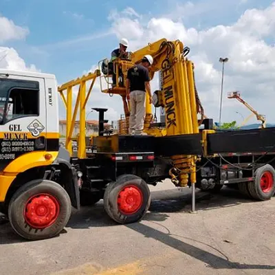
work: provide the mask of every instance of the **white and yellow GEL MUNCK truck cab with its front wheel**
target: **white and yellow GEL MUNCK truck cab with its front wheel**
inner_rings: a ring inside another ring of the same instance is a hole
[[[72,190],[76,198],[72,176],[63,184],[72,167],[58,121],[54,75],[0,69],[0,211],[27,239],[56,234],[71,214]],[[69,202],[63,214],[62,200]]]

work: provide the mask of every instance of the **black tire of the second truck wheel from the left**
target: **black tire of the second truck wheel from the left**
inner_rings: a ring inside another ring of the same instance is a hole
[[[118,206],[120,192],[125,188],[133,186],[135,194],[141,193],[142,200],[135,212],[125,212]],[[117,223],[134,223],[140,221],[148,211],[151,204],[151,192],[146,182],[136,175],[121,175],[117,181],[112,181],[108,184],[104,192],[104,210],[109,217]]]

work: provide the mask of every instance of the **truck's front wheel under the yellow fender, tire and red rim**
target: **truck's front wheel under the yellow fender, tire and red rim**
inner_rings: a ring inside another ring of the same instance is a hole
[[[50,239],[63,230],[71,215],[71,201],[54,181],[35,179],[10,200],[8,217],[17,234],[29,240]]]

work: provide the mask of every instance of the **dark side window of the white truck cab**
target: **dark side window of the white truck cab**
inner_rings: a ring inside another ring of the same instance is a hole
[[[24,80],[6,81],[0,83],[1,124],[14,118],[39,115],[39,83]]]

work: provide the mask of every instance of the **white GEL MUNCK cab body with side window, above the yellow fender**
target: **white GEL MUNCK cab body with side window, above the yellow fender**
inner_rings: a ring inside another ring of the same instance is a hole
[[[58,151],[58,128],[55,76],[0,69],[0,169],[32,151]]]

